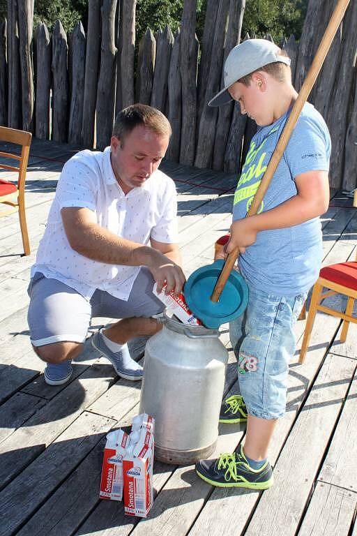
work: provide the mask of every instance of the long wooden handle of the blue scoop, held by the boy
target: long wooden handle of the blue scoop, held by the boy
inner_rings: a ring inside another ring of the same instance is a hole
[[[266,191],[268,190],[268,186],[271,182],[271,179],[273,178],[273,174],[275,173],[276,168],[278,168],[278,164],[280,162],[280,159],[282,158],[282,154],[284,153],[285,148],[287,147],[291,133],[294,130],[296,122],[298,121],[298,117],[301,113],[301,110],[303,109],[303,105],[305,104],[307,97],[309,96],[310,91],[312,89],[312,86],[314,85],[314,82],[317,79],[319,70],[321,69],[321,66],[324,63],[324,59],[326,58],[328,49],[331,46],[332,40],[335,36],[335,33],[338,27],[340,26],[340,23],[343,19],[345,11],[347,10],[348,5],[349,5],[349,0],[339,0],[337,2],[337,6],[335,7],[335,10],[333,12],[330,22],[328,23],[328,27],[321,40],[319,48],[317,49],[317,53],[314,57],[314,60],[312,61],[310,70],[307,73],[305,82],[303,82],[303,86],[301,87],[301,90],[298,94],[298,98],[296,99],[295,104],[291,110],[289,119],[287,120],[284,126],[284,129],[282,131],[278,144],[275,147],[273,155],[271,156],[271,160],[268,163],[266,172],[264,173],[264,176],[261,179],[261,183],[259,185],[257,193],[255,194],[255,198],[253,199],[252,204],[250,205],[250,209],[248,211],[247,216],[253,216],[254,214],[257,214],[257,211],[259,210],[259,207],[264,198],[264,195],[266,194]],[[231,270],[233,269],[234,263],[236,262],[237,258],[238,258],[238,248],[235,248],[233,251],[231,251],[231,253],[229,253],[227,260],[225,262],[225,265],[222,268],[218,281],[213,290],[213,294],[211,296],[212,301],[217,302],[220,299],[222,290],[225,287],[225,283],[227,282],[227,279],[229,278],[229,274],[231,273]]]

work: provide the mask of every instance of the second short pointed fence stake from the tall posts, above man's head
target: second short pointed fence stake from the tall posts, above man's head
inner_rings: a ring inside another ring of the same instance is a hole
[[[167,80],[169,77],[169,65],[173,46],[174,36],[169,24],[166,24],[156,45],[153,91],[151,94],[151,106],[158,108],[164,114],[167,103]]]

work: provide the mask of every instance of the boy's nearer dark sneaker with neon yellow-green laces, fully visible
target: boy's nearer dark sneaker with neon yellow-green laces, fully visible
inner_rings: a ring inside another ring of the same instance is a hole
[[[221,454],[215,460],[196,463],[197,475],[208,484],[220,488],[248,488],[257,491],[273,486],[273,470],[266,461],[260,469],[250,467],[243,447],[233,454]]]

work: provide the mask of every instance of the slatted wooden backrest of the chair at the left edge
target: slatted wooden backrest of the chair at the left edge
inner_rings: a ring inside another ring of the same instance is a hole
[[[3,158],[10,158],[19,162],[18,166],[8,165],[0,162],[0,168],[15,171],[19,174],[17,180],[17,188],[20,192],[23,192],[25,187],[25,177],[27,162],[29,161],[31,138],[31,132],[19,131],[16,128],[0,126],[0,142],[13,143],[22,147],[21,156],[18,156],[17,154],[13,153],[0,151],[0,156],[2,156]]]

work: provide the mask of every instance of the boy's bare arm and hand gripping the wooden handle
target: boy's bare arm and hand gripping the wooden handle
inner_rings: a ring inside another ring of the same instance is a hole
[[[295,177],[297,195],[274,209],[236,220],[231,224],[231,239],[226,253],[238,247],[239,253],[255,243],[257,232],[292,227],[321,216],[328,209],[329,186],[326,171],[309,171]]]

